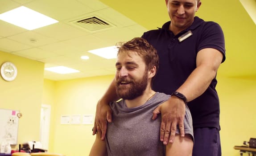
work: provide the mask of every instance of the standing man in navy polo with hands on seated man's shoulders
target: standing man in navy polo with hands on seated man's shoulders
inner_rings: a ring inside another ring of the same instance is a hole
[[[221,156],[219,136],[219,97],[216,74],[225,61],[225,42],[221,27],[195,16],[200,0],[165,0],[170,21],[161,29],[143,34],[159,55],[159,70],[153,90],[171,94],[168,103],[153,112],[161,113],[160,140],[173,143],[179,126],[184,135],[185,103],[188,104],[194,127],[193,156]],[[111,122],[108,102],[118,99],[114,80],[97,104],[95,129],[99,126],[104,139]],[[107,119],[106,119],[107,117]],[[95,132],[94,132],[95,133]]]

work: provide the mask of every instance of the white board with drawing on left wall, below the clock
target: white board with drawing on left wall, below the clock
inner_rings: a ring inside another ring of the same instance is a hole
[[[19,111],[0,109],[0,144],[17,144]]]

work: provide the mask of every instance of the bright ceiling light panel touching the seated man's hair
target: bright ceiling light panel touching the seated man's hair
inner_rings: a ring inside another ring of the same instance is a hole
[[[117,51],[118,49],[116,48],[116,46],[110,46],[100,49],[89,50],[88,52],[98,55],[100,57],[111,59],[116,58]]]

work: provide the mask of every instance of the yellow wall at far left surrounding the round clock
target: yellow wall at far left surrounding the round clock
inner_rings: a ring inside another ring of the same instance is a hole
[[[18,144],[39,140],[44,64],[0,52],[0,64],[7,61],[16,65],[18,74],[12,82],[0,78],[0,108],[22,113],[23,116],[19,119]]]

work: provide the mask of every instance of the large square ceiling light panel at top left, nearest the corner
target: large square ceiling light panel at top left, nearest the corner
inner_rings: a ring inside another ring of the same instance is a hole
[[[0,14],[0,20],[17,25],[27,30],[41,28],[58,22],[53,18],[45,16],[24,6]]]

